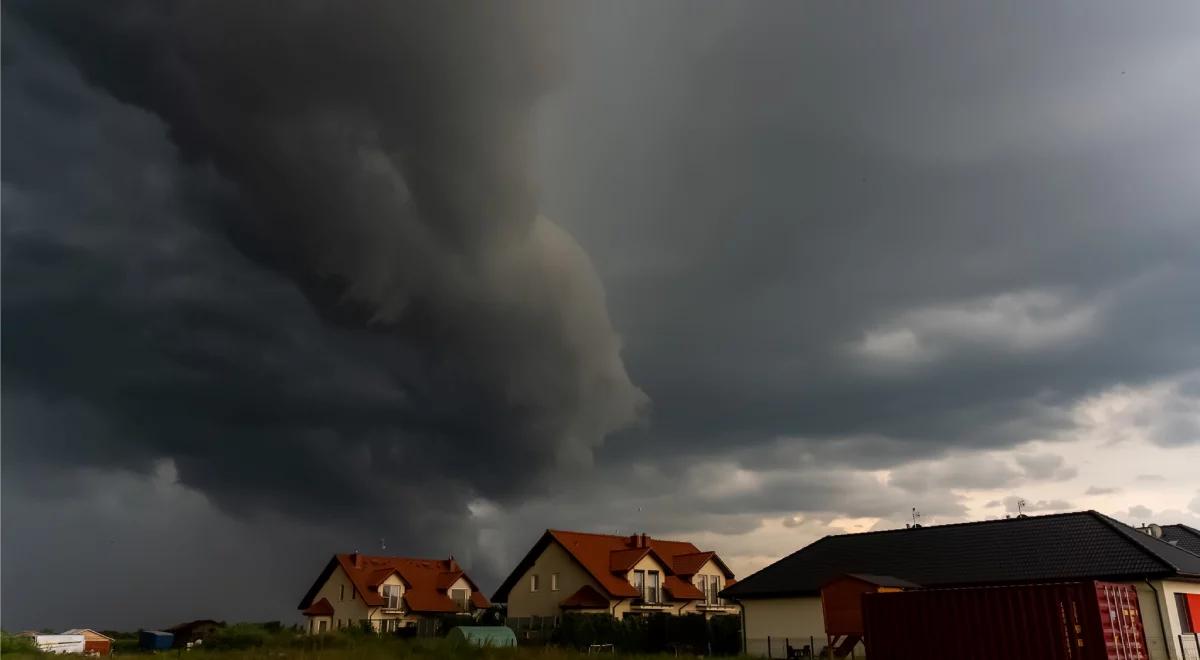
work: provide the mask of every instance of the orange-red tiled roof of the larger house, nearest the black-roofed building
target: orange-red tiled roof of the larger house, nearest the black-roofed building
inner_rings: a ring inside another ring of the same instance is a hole
[[[686,578],[695,575],[709,559],[721,568],[727,581],[731,581],[733,577],[733,574],[716,557],[716,553],[702,552],[695,545],[686,541],[662,541],[638,535],[618,536],[616,534],[588,534],[547,529],[533,550],[529,551],[521,564],[517,565],[508,580],[504,581],[504,584],[496,592],[494,600],[500,602],[508,600],[509,592],[516,581],[533,565],[533,562],[550,542],[557,542],[562,546],[595,580],[606,599],[637,598],[641,595],[637,588],[629,583],[625,575],[647,554],[650,554],[662,564],[667,577],[664,587],[667,587],[668,592],[677,600],[703,598],[700,589],[692,587],[690,580]],[[677,577],[672,582],[671,578],[676,576],[683,576],[683,578]],[[674,589],[672,590],[668,586],[673,586]]]

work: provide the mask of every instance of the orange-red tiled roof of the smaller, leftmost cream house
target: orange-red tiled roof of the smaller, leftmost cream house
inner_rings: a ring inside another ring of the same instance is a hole
[[[487,599],[479,593],[479,587],[467,576],[454,559],[414,559],[409,557],[368,557],[365,554],[335,554],[308,594],[300,601],[300,608],[312,605],[320,587],[341,566],[349,576],[354,589],[362,596],[368,607],[384,604],[379,586],[392,574],[398,575],[404,583],[404,600],[410,610],[416,612],[455,612],[457,607],[445,593],[451,584],[463,578],[470,584],[470,602],[476,607],[487,607]],[[479,598],[475,598],[479,594]],[[324,599],[322,599],[324,600]]]

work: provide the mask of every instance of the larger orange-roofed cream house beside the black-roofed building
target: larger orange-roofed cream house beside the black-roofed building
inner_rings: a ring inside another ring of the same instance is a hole
[[[508,604],[510,619],[726,614],[736,610],[719,593],[734,582],[715,552],[686,541],[547,529],[492,600]]]

